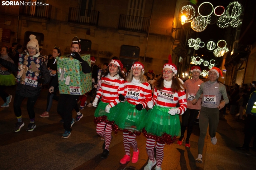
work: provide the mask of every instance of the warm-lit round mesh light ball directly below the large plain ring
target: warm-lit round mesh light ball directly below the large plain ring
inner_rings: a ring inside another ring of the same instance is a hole
[[[196,32],[202,32],[210,24],[210,16],[197,16],[191,21],[191,28]]]

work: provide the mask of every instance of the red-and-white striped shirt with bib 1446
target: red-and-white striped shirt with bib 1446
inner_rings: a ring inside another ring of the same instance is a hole
[[[156,104],[160,107],[176,107],[177,102],[179,101],[179,115],[182,115],[187,109],[187,99],[184,90],[181,90],[179,92],[172,92],[171,88],[163,87],[163,89],[161,90],[157,90],[155,88],[152,101],[153,105]]]

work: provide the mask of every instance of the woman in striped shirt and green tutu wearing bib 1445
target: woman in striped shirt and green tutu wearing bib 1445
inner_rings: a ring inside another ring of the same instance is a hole
[[[133,148],[132,163],[136,163],[139,158],[139,150],[137,146],[136,136],[141,134],[141,129],[137,126],[143,117],[146,115],[147,102],[151,101],[151,87],[148,84],[146,77],[143,75],[144,65],[141,62],[135,62],[132,65],[131,72],[125,81],[124,94],[119,95],[119,99],[124,101],[123,106],[117,119],[115,119],[115,132],[117,128],[123,131],[123,143],[125,155],[120,160],[121,164],[126,164],[130,161],[130,147]]]

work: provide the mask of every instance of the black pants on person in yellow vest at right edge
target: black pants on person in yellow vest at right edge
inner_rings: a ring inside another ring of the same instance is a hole
[[[252,140],[252,136],[256,131],[256,116],[248,114],[246,117],[246,123],[245,123],[245,140],[243,141],[244,147],[249,147],[249,144]],[[253,147],[256,147],[256,138],[254,138]]]

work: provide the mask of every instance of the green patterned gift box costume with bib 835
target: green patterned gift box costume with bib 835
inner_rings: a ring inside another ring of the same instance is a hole
[[[91,66],[89,54],[81,58]],[[83,95],[92,89],[91,73],[84,74],[80,62],[72,57],[56,57],[59,89],[61,94]]]

